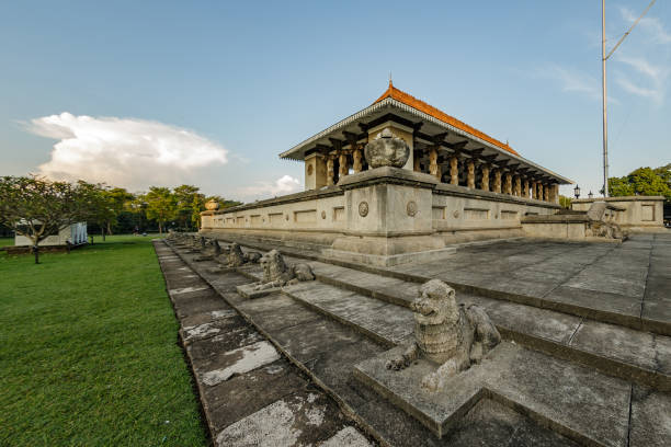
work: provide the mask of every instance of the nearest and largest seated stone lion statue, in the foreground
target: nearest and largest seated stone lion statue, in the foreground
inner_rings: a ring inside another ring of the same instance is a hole
[[[421,356],[440,364],[424,376],[422,388],[437,391],[446,378],[466,370],[501,342],[501,334],[489,316],[478,306],[457,305],[455,291],[440,279],[420,287],[410,305],[414,318],[414,342],[396,358],[388,369],[403,369]]]

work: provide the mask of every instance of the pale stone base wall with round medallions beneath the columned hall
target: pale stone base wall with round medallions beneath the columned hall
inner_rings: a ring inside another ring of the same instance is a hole
[[[414,238],[408,239],[412,245],[417,237],[428,237],[435,243],[424,239],[427,247],[414,250],[433,250],[445,243],[523,236],[523,217],[559,209],[554,203],[437,183],[431,175],[394,168],[345,179],[338,186],[204,211],[203,231],[325,248],[340,238],[339,250],[367,243],[376,245],[376,254],[397,254],[385,252],[395,250],[389,243],[371,238]],[[396,252],[412,250],[406,245]]]

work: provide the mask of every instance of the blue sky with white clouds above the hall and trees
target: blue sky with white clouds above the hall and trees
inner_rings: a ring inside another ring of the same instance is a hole
[[[607,1],[612,46],[648,0]],[[609,61],[611,174],[671,162],[671,8]],[[3,2],[0,175],[250,200],[394,84],[601,187],[601,2]],[[568,194],[564,188],[562,193]]]

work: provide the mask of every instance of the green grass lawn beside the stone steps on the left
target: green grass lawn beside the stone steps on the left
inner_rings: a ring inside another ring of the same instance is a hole
[[[0,446],[207,445],[150,239],[0,251]]]

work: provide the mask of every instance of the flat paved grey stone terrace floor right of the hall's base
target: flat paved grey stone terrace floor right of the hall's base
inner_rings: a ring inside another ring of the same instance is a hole
[[[390,268],[493,298],[671,335],[671,231],[622,244],[527,239],[463,247],[448,262]]]

